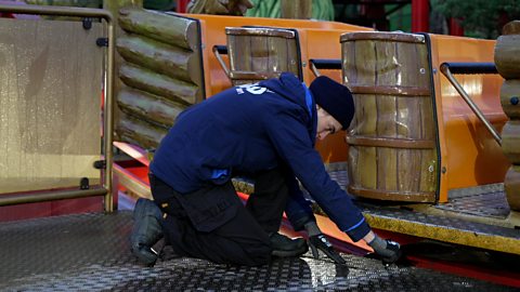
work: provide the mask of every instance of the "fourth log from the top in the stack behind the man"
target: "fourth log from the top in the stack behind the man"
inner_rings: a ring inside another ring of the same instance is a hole
[[[117,104],[125,114],[165,129],[172,127],[179,114],[186,108],[183,104],[128,87],[119,91]]]

